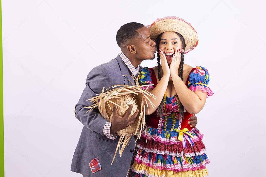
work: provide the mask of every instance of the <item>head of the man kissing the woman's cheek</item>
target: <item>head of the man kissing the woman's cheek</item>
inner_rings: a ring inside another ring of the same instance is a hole
[[[155,42],[151,40],[149,30],[143,24],[124,24],[118,30],[116,38],[121,51],[132,60],[131,63],[136,61],[136,64],[140,64],[143,60],[155,58]]]

